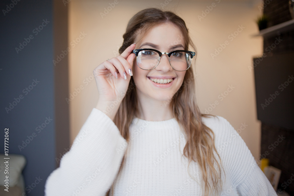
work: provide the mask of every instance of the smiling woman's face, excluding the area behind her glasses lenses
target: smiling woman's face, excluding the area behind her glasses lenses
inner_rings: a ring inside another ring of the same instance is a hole
[[[160,52],[172,52],[174,50],[184,50],[184,39],[180,29],[173,24],[161,24],[153,27],[149,33],[136,43],[135,49],[152,48]],[[137,57],[136,57],[137,58]],[[137,65],[136,58],[133,64],[133,79],[136,84],[137,96],[139,100],[148,101],[155,99],[170,102],[173,95],[181,87],[186,71],[174,70],[168,56],[163,54],[156,68],[143,70]],[[166,84],[158,84],[152,80],[167,79]]]

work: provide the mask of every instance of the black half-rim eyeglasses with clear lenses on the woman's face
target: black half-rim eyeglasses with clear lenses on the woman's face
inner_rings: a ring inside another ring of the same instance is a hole
[[[160,57],[167,54],[169,64],[176,71],[186,71],[191,65],[191,59],[195,56],[195,52],[187,50],[175,50],[173,52],[159,52],[156,49],[144,48],[132,51],[137,57],[138,67],[144,70],[151,70],[157,67]]]

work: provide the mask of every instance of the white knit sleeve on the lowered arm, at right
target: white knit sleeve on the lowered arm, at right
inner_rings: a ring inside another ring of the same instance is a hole
[[[238,132],[225,118],[218,117],[220,124],[217,126],[220,128],[216,133],[217,149],[231,187],[238,195],[277,195]]]

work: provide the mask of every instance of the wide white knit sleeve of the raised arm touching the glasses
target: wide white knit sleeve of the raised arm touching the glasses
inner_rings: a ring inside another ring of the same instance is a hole
[[[46,180],[46,196],[106,195],[127,142],[113,121],[93,108],[69,152]]]

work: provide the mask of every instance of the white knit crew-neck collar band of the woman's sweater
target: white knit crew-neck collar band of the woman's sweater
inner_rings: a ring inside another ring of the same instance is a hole
[[[176,118],[171,118],[163,121],[149,121],[134,117],[132,124],[141,129],[166,129],[178,126],[178,121],[176,120]]]

